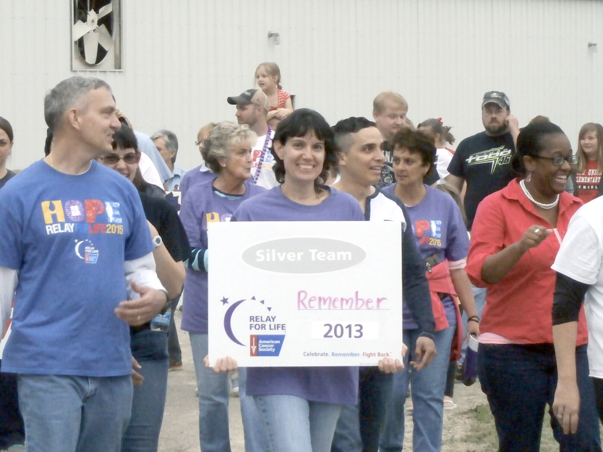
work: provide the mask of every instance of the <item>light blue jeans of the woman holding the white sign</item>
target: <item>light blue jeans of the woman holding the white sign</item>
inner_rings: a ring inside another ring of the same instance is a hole
[[[295,395],[254,395],[268,432],[268,452],[329,452],[341,405]]]

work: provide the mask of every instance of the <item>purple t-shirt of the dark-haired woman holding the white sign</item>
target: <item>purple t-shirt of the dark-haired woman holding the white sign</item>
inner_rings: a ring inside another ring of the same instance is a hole
[[[305,206],[283,195],[280,186],[242,202],[233,221],[364,221],[351,195],[332,187],[317,206]],[[273,280],[278,284],[278,280]],[[250,367],[248,395],[295,395],[324,403],[358,403],[358,367]]]

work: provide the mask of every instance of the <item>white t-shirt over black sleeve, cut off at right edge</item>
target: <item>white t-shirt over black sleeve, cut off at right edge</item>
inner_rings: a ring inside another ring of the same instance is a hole
[[[555,271],[590,284],[584,296],[590,376],[603,378],[603,197],[580,207],[569,222]]]

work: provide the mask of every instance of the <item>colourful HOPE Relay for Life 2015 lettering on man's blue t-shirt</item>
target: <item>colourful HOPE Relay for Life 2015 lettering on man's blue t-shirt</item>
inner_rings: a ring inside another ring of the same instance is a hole
[[[123,234],[119,202],[98,199],[42,201],[46,235],[61,233]],[[101,216],[103,222],[96,222]]]

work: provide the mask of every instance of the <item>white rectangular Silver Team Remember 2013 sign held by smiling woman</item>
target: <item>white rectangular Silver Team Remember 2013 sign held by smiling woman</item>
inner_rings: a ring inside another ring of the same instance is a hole
[[[209,360],[402,360],[402,230],[393,221],[213,222]]]

